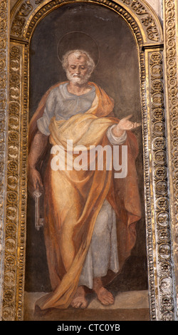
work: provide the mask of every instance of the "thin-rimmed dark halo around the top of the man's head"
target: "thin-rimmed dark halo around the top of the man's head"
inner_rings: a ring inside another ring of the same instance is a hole
[[[63,55],[66,52],[76,49],[88,52],[93,58],[95,66],[98,65],[100,58],[98,44],[94,38],[82,31],[71,31],[61,38],[57,48],[59,61],[63,61]]]

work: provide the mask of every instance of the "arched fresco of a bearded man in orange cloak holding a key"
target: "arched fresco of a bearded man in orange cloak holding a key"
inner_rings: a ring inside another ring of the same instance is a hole
[[[147,289],[137,44],[96,5],[52,11],[30,49],[26,292],[36,313]]]

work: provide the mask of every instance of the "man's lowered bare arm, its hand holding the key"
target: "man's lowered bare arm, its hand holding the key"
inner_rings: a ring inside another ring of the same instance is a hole
[[[48,144],[48,136],[43,135],[39,130],[33,138],[31,143],[31,150],[28,155],[28,182],[30,184],[30,192],[43,187],[41,175],[36,170],[36,165],[43,156]]]

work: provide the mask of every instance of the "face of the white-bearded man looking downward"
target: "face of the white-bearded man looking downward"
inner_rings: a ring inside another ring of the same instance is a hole
[[[83,84],[88,81],[90,74],[88,73],[87,56],[81,54],[79,57],[74,53],[68,56],[68,68],[66,70],[68,80],[73,83]]]

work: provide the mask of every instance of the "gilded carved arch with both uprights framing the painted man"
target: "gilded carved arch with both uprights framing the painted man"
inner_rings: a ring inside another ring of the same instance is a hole
[[[167,141],[164,110],[164,43],[159,19],[146,1],[17,1],[11,11],[9,135],[4,253],[4,320],[23,319],[26,263],[26,162],[30,45],[38,24],[70,4],[114,11],[135,38],[142,105],[142,154],[150,319],[175,319],[170,244]]]

